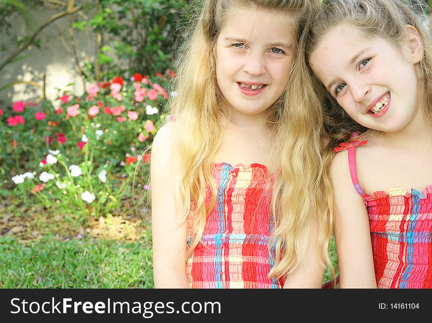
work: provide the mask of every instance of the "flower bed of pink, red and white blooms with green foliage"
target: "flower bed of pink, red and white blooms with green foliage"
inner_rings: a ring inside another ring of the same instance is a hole
[[[18,101],[0,109],[3,187],[23,201],[31,194],[47,209],[93,217],[131,197],[133,178],[145,199],[148,167],[137,177],[134,171],[138,162],[150,162],[146,148],[168,99],[161,84],[170,77],[171,71],[118,76],[88,86],[81,97],[59,90],[54,102]]]

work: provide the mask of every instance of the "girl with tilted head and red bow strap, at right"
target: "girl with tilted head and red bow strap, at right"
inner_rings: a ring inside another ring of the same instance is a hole
[[[325,97],[327,160],[338,152],[329,174],[341,287],[432,288],[432,43],[424,9],[416,0],[324,0],[307,33],[307,59]]]

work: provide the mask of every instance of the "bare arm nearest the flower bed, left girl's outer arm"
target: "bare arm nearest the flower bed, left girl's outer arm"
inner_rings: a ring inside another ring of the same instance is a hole
[[[155,136],[150,166],[152,195],[153,277],[155,288],[189,288],[186,276],[186,223],[175,204],[171,126]]]

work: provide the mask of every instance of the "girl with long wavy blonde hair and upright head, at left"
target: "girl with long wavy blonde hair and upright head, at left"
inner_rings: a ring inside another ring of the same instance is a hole
[[[152,148],[155,287],[321,287],[322,120],[297,44],[316,6],[203,1]]]

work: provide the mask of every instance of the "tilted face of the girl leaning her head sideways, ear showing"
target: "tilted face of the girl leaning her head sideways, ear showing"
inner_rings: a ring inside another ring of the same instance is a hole
[[[382,38],[367,38],[356,27],[328,31],[312,53],[310,66],[359,124],[379,131],[403,129],[421,117],[418,63],[423,47],[417,31],[397,50]]]

